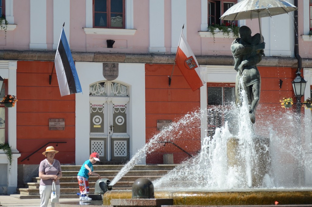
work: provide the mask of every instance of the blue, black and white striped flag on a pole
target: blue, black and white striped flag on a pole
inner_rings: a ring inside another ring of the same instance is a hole
[[[71,50],[62,28],[60,42],[54,59],[61,96],[82,92]]]

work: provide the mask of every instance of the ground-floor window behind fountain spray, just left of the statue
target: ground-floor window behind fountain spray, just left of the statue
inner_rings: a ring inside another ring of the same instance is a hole
[[[217,127],[233,119],[233,114],[223,112],[233,103],[235,87],[207,87],[207,136],[212,137]]]

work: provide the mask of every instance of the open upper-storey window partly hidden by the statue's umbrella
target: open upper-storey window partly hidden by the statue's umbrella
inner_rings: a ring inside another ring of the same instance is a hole
[[[236,0],[208,0],[208,25],[231,23],[229,20],[221,20],[220,17],[235,3],[237,3]]]

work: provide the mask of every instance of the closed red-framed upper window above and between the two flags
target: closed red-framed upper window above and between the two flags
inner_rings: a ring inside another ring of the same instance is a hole
[[[93,0],[94,28],[125,28],[125,0]]]

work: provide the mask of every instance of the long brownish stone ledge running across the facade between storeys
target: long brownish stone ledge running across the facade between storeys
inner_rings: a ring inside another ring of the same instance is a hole
[[[17,61],[54,61],[55,51],[16,51],[0,50],[1,60]],[[174,54],[132,54],[132,53],[99,53],[99,52],[72,52],[76,62],[110,62],[110,63],[148,63],[173,64]],[[232,56],[196,55],[200,65],[234,65]],[[298,67],[296,58],[263,57],[258,66]],[[304,68],[312,68],[312,59],[303,59]]]

